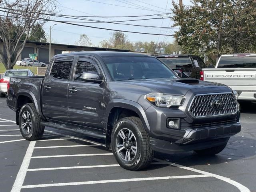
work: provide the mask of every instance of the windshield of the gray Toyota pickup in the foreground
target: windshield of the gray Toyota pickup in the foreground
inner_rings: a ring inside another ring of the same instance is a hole
[[[128,79],[177,78],[154,57],[106,56],[103,60],[115,81]]]

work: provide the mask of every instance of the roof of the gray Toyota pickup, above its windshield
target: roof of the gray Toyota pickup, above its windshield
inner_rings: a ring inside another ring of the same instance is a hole
[[[144,57],[152,57],[150,55],[132,53],[132,52],[117,52],[117,51],[80,51],[80,52],[72,52],[72,53],[63,53],[57,54],[57,56],[68,56],[68,55],[91,55],[91,56],[144,56]]]

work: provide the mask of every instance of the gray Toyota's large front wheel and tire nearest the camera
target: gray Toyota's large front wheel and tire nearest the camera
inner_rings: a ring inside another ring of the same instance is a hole
[[[116,122],[111,134],[111,146],[118,164],[127,170],[146,168],[154,158],[149,136],[138,117],[126,117]]]

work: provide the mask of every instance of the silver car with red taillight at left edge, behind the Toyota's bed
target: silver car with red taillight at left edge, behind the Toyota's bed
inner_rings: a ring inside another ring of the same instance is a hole
[[[34,76],[28,69],[10,69],[7,70],[0,79],[0,97],[5,97],[10,86],[10,77],[14,76]]]

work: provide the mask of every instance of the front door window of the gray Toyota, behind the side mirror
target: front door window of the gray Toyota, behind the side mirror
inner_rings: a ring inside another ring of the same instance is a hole
[[[92,64],[91,62],[89,62],[88,60],[85,60],[83,58],[79,58],[77,65],[76,65],[76,73],[75,73],[75,81],[81,81],[80,80],[80,76],[82,75],[82,73],[84,72],[95,72],[98,73],[97,68],[95,67],[94,64]]]

